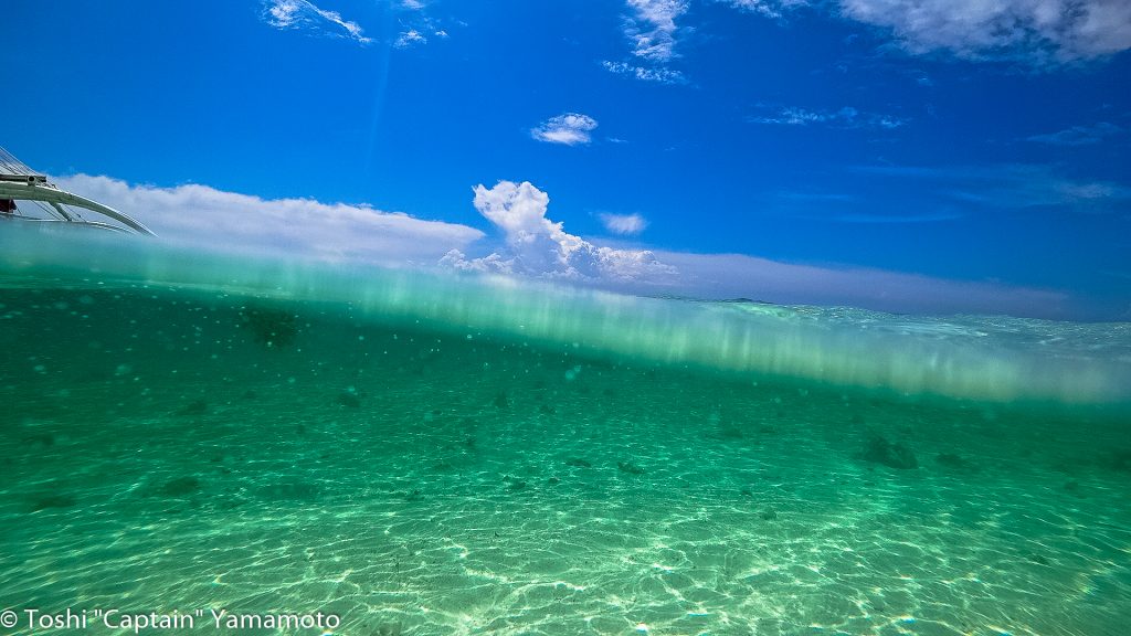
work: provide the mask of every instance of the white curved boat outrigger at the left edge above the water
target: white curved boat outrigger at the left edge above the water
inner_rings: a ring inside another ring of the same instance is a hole
[[[23,208],[18,201],[27,201]],[[113,221],[86,218],[95,213]],[[75,223],[103,230],[148,234],[153,232],[139,221],[116,209],[60,189],[46,175],[28,167],[24,162],[0,147],[0,221],[20,220],[38,223]]]

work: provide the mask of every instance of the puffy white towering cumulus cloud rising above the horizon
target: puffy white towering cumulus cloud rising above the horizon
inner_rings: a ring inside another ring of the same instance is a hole
[[[673,267],[648,250],[598,247],[546,217],[550,196],[529,182],[500,181],[475,187],[475,209],[501,233],[503,253],[468,259],[452,250],[441,265],[467,272],[521,274],[581,282],[658,283],[672,278]]]

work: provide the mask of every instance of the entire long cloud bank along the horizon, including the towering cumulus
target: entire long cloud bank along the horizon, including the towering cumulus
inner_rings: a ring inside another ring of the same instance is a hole
[[[474,188],[473,205],[500,234],[502,246],[469,258],[466,251],[487,239],[481,230],[365,205],[262,199],[200,184],[131,186],[87,174],[54,181],[140,217],[162,240],[253,256],[407,265],[582,283],[627,293],[884,311],[1060,317],[1072,309],[1072,299],[1060,291],[863,267],[797,265],[736,253],[602,246],[570,234],[562,222],[551,220],[549,195],[529,182]],[[613,220],[606,224],[628,230],[639,231],[646,224],[639,215],[608,216]]]

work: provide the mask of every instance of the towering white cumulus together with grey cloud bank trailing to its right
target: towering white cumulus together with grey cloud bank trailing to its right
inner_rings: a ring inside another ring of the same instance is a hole
[[[623,292],[776,303],[849,306],[884,311],[1064,317],[1074,310],[1060,291],[966,282],[863,267],[782,263],[734,253],[689,253],[598,247],[546,217],[550,197],[528,182],[475,188],[475,207],[506,248],[469,259],[452,249],[440,259],[465,272],[582,282]]]

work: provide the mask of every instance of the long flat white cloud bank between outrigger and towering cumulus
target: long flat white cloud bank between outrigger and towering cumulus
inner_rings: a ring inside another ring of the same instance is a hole
[[[368,206],[261,199],[207,186],[130,186],[77,174],[60,188],[133,216],[162,240],[232,251],[397,264],[432,264],[483,232]]]

